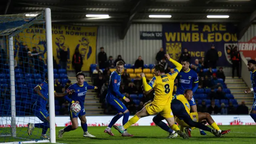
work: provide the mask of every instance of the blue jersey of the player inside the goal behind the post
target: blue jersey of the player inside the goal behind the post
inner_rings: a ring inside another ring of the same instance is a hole
[[[42,84],[39,84],[38,87],[40,88],[40,92],[42,93],[42,95],[46,99],[48,99],[48,83],[46,81],[44,81],[44,82],[42,82]],[[47,100],[44,100],[44,98],[42,98],[41,96],[38,95],[35,104],[36,104],[36,108],[45,109]]]

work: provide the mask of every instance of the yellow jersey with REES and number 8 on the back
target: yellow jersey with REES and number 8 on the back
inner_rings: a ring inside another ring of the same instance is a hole
[[[149,85],[155,90],[153,104],[156,104],[157,106],[170,105],[172,101],[174,80],[178,73],[179,71],[175,68],[168,74],[162,74],[161,76],[154,76],[152,78]]]

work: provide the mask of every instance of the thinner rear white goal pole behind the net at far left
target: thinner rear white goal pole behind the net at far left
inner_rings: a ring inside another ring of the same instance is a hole
[[[12,137],[16,137],[16,109],[15,109],[15,77],[14,77],[14,50],[13,37],[9,38],[9,65],[10,65],[10,86],[11,86],[11,120]]]

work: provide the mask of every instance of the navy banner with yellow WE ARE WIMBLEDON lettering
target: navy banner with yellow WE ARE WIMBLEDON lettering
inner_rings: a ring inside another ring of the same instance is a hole
[[[236,28],[232,24],[172,23],[163,24],[163,48],[171,58],[178,60],[184,48],[188,48],[194,63],[215,45],[218,50],[218,66],[230,65],[230,51],[238,46]]]

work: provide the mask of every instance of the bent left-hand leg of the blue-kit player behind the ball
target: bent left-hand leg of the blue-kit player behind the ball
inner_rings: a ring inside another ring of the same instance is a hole
[[[64,132],[69,132],[71,130],[76,130],[78,128],[78,120],[77,120],[78,114],[79,114],[79,112],[75,114],[74,112],[69,110],[69,116],[70,116],[72,125],[66,126],[66,128],[64,128],[64,129],[60,129],[58,138],[62,138]]]

